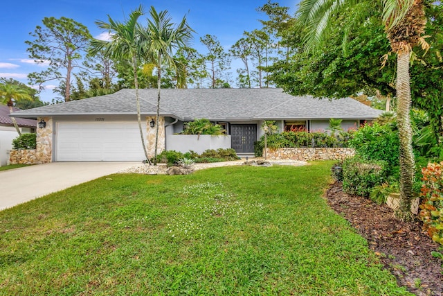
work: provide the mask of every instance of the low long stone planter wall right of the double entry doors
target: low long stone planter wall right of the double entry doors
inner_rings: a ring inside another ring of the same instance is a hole
[[[269,159],[343,160],[355,155],[354,148],[280,148],[267,150]]]

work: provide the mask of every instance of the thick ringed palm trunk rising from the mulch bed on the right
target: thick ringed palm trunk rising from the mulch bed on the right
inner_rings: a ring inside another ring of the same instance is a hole
[[[410,204],[413,200],[414,155],[410,125],[410,51],[397,53],[397,125],[400,140],[400,207],[395,213],[401,220],[411,220]]]

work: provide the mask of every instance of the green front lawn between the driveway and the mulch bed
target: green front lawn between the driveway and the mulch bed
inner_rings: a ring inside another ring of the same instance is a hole
[[[322,198],[331,162],[110,175],[0,212],[0,295],[412,295]]]

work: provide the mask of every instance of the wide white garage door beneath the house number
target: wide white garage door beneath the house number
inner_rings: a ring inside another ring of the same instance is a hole
[[[137,122],[59,122],[55,147],[57,162],[145,159]]]

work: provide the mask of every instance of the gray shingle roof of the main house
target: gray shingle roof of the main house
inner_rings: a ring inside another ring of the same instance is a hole
[[[139,89],[141,113],[156,112],[156,89]],[[374,119],[375,110],[352,98],[329,101],[291,96],[282,89],[161,89],[161,115],[183,121],[248,121],[258,119]],[[17,117],[136,114],[135,89],[15,112]]]

